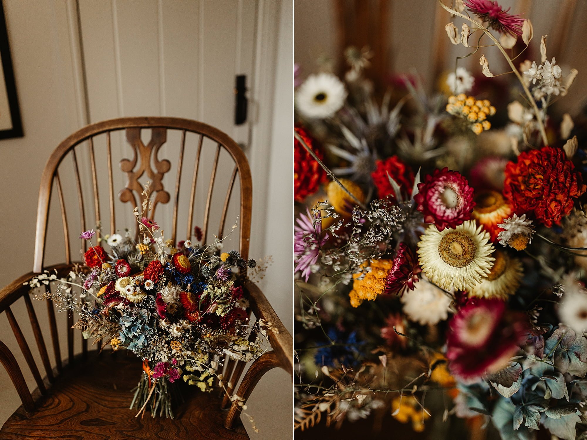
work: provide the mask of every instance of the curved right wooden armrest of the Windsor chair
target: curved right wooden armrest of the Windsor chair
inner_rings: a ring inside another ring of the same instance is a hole
[[[294,340],[289,331],[284,327],[271,304],[257,284],[247,280],[245,282],[249,296],[251,297],[251,310],[257,317],[267,323],[271,323],[271,329],[267,334],[271,347],[279,360],[279,366],[289,374],[294,375]]]

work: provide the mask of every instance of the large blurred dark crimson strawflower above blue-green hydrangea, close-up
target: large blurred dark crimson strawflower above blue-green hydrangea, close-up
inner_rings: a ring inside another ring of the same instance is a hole
[[[451,373],[464,380],[506,367],[529,332],[526,314],[509,311],[504,301],[478,298],[450,321],[447,353]]]

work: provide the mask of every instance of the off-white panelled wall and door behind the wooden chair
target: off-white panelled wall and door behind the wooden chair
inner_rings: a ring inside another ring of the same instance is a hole
[[[254,179],[251,256],[274,256],[262,287],[293,330],[292,0],[80,0],[79,21],[75,0],[5,0],[4,7],[25,137],[0,140],[0,286],[32,268],[39,180],[61,140],[87,122],[110,117],[189,117],[218,126],[245,145]],[[237,73],[247,73],[251,98],[250,123],[241,127],[231,122]],[[113,154],[119,157],[113,158],[114,164],[129,154],[122,142],[115,146]],[[161,156],[169,154],[174,170],[173,148],[164,148]],[[171,174],[164,180],[170,192],[175,179]],[[124,177],[115,176],[117,191]],[[117,210],[124,208],[117,203]],[[109,212],[105,199],[101,210]],[[160,221],[169,218],[162,211]],[[227,224],[230,221],[229,214]],[[78,225],[78,220],[70,220],[72,234]],[[59,225],[53,226],[60,234]],[[62,240],[56,234],[55,241]],[[49,236],[49,247],[51,242]],[[48,257],[60,258],[52,251]],[[38,358],[20,305],[13,311]],[[46,315],[43,304],[35,306],[39,317]],[[24,365],[4,314],[0,338]],[[26,367],[23,372],[32,388]],[[0,401],[5,402],[0,405],[2,422],[19,405],[2,368]],[[266,375],[251,396],[248,412],[261,431],[251,433],[253,438],[289,438],[289,375],[281,370]],[[244,424],[249,428],[247,421]]]

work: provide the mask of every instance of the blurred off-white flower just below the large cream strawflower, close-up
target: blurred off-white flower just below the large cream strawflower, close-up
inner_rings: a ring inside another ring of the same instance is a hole
[[[451,303],[450,297],[426,278],[414,284],[414,290],[407,290],[400,301],[409,320],[421,325],[446,320]]]

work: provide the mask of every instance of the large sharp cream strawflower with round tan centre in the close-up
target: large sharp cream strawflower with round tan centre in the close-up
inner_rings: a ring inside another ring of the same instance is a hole
[[[437,286],[450,290],[468,290],[481,283],[490,273],[495,248],[489,233],[474,220],[456,228],[438,231],[427,227],[418,243],[418,256],[423,273]]]

